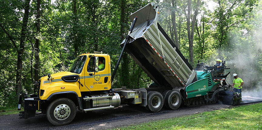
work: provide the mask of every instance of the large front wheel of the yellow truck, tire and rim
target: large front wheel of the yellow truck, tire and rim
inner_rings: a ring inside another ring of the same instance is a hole
[[[46,117],[53,125],[66,125],[76,116],[76,105],[68,98],[59,98],[51,102],[47,108]]]

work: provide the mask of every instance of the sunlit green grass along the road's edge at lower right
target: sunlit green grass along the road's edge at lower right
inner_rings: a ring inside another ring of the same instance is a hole
[[[130,125],[117,129],[262,129],[262,103],[144,122],[138,125]]]

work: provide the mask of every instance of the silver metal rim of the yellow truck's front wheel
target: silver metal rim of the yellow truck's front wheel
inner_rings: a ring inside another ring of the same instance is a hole
[[[54,116],[58,120],[65,120],[69,117],[71,109],[66,104],[60,104],[55,107]]]

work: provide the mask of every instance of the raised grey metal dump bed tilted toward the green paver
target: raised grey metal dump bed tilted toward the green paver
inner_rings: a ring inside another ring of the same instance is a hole
[[[137,21],[125,51],[156,85],[186,87],[197,80],[196,72],[157,22],[157,10],[152,2],[129,16]]]

